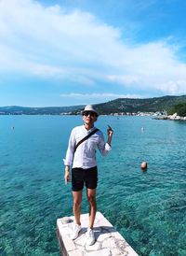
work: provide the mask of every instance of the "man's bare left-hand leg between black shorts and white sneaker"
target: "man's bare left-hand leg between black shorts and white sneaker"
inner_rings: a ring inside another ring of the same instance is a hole
[[[80,225],[82,192],[73,192],[73,214],[76,224]]]

